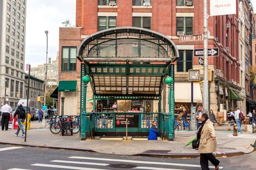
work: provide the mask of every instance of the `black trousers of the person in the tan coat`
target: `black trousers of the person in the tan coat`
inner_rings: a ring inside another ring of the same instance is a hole
[[[218,166],[220,161],[214,157],[212,153],[200,153],[200,165],[203,170],[209,169],[209,162],[208,160],[214,165]]]

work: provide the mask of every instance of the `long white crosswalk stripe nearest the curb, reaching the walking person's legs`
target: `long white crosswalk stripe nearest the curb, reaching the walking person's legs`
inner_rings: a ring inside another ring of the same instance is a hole
[[[125,160],[125,159],[106,159],[106,158],[91,158],[91,157],[69,157],[73,159],[89,159],[89,160],[103,160],[103,161],[114,161],[114,162],[130,162],[137,164],[153,164],[153,165],[171,165],[171,166],[187,166],[187,167],[201,167],[200,165],[193,164],[176,164],[176,163],[167,163],[167,162],[151,162],[151,161],[137,161],[137,160]],[[209,168],[215,168],[215,166],[209,166]],[[219,167],[222,169],[223,167]]]

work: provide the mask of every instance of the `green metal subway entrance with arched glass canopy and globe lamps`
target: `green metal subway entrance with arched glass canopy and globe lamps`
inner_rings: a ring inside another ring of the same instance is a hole
[[[174,65],[176,45],[158,32],[112,28],[85,38],[78,48],[81,64],[80,137],[147,136],[153,120],[174,139]],[[93,109],[86,112],[90,83]],[[169,89],[163,95],[165,84]],[[162,101],[163,100],[163,101]],[[166,113],[161,111],[166,105]],[[164,127],[165,126],[165,127]]]

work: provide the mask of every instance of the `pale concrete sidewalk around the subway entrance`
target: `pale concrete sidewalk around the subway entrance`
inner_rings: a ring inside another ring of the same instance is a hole
[[[198,151],[192,146],[184,148],[185,144],[196,137],[195,132],[176,132],[174,141],[113,141],[113,140],[85,140],[79,138],[79,134],[64,136],[52,134],[48,128],[35,128],[41,123],[32,122],[31,130],[28,130],[27,142],[19,137],[14,137],[16,130],[0,131],[0,144],[19,144],[37,147],[53,147],[62,149],[75,149],[79,151],[99,152],[106,154],[122,155],[147,155],[153,157],[198,157]],[[217,156],[232,156],[250,153],[254,144],[256,134],[241,133],[234,137],[233,132],[217,131]]]

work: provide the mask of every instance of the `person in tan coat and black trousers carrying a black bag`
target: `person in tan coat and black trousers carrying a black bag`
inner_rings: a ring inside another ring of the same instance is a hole
[[[201,121],[202,125],[197,133],[197,139],[200,139],[198,152],[200,153],[201,169],[209,169],[208,161],[210,161],[215,166],[215,170],[217,170],[219,169],[220,161],[212,154],[212,152],[215,152],[217,149],[213,123],[208,119],[208,115],[206,113],[201,115]]]

